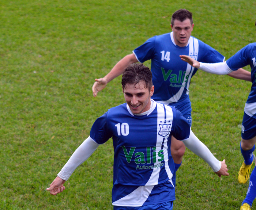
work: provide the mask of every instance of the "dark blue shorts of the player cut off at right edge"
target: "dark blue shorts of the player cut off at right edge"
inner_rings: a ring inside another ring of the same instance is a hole
[[[246,113],[244,113],[242,121],[241,136],[244,140],[249,140],[256,136],[256,119],[250,117]]]

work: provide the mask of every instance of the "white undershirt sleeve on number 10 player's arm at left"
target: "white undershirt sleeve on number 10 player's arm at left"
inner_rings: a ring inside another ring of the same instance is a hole
[[[84,140],[84,142],[75,150],[72,156],[69,158],[68,162],[64,165],[58,176],[61,179],[68,180],[75,169],[86,161],[91,154],[98,148],[97,144],[90,136]]]

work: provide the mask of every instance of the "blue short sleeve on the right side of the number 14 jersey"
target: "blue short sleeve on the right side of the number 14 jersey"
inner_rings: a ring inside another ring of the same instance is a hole
[[[202,59],[199,62],[203,63],[218,63],[223,62],[225,57],[222,56],[217,50],[213,49],[211,46],[202,42],[202,50],[199,52],[203,53]]]

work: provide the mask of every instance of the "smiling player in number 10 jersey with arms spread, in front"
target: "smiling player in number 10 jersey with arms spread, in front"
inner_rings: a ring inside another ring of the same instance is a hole
[[[90,136],[47,188],[50,194],[65,190],[63,184],[74,170],[111,137],[114,210],[172,210],[175,200],[172,135],[207,161],[219,177],[229,175],[225,160],[220,162],[212,155],[176,108],[151,99],[154,86],[148,67],[129,65],[123,73],[122,86],[126,103],[110,108],[94,122]]]

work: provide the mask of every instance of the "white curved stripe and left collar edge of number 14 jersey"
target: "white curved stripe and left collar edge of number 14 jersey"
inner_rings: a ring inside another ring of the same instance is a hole
[[[172,38],[172,41],[174,42],[173,32],[170,33],[170,36]],[[196,38],[190,37],[189,40],[188,40],[188,44],[189,44],[189,53],[188,53],[188,55],[190,57],[194,58],[195,60],[197,60],[198,49],[199,49],[198,40]],[[195,69],[194,67],[187,64],[187,69],[186,69],[186,74],[185,74],[185,78],[186,78],[187,75],[189,75],[189,79],[188,79],[188,83],[187,83],[187,94],[189,92],[188,88],[189,88],[190,80],[191,80],[194,69]],[[177,102],[180,99],[180,97],[182,96],[182,93],[183,93],[184,88],[185,88],[185,86],[184,86],[185,84],[186,83],[185,83],[185,80],[184,80],[184,82],[182,83],[182,87],[176,93],[176,95],[172,96],[172,98],[170,98],[166,101],[157,101],[157,102],[162,103],[162,104],[170,104],[170,103],[173,103],[173,102]]]

